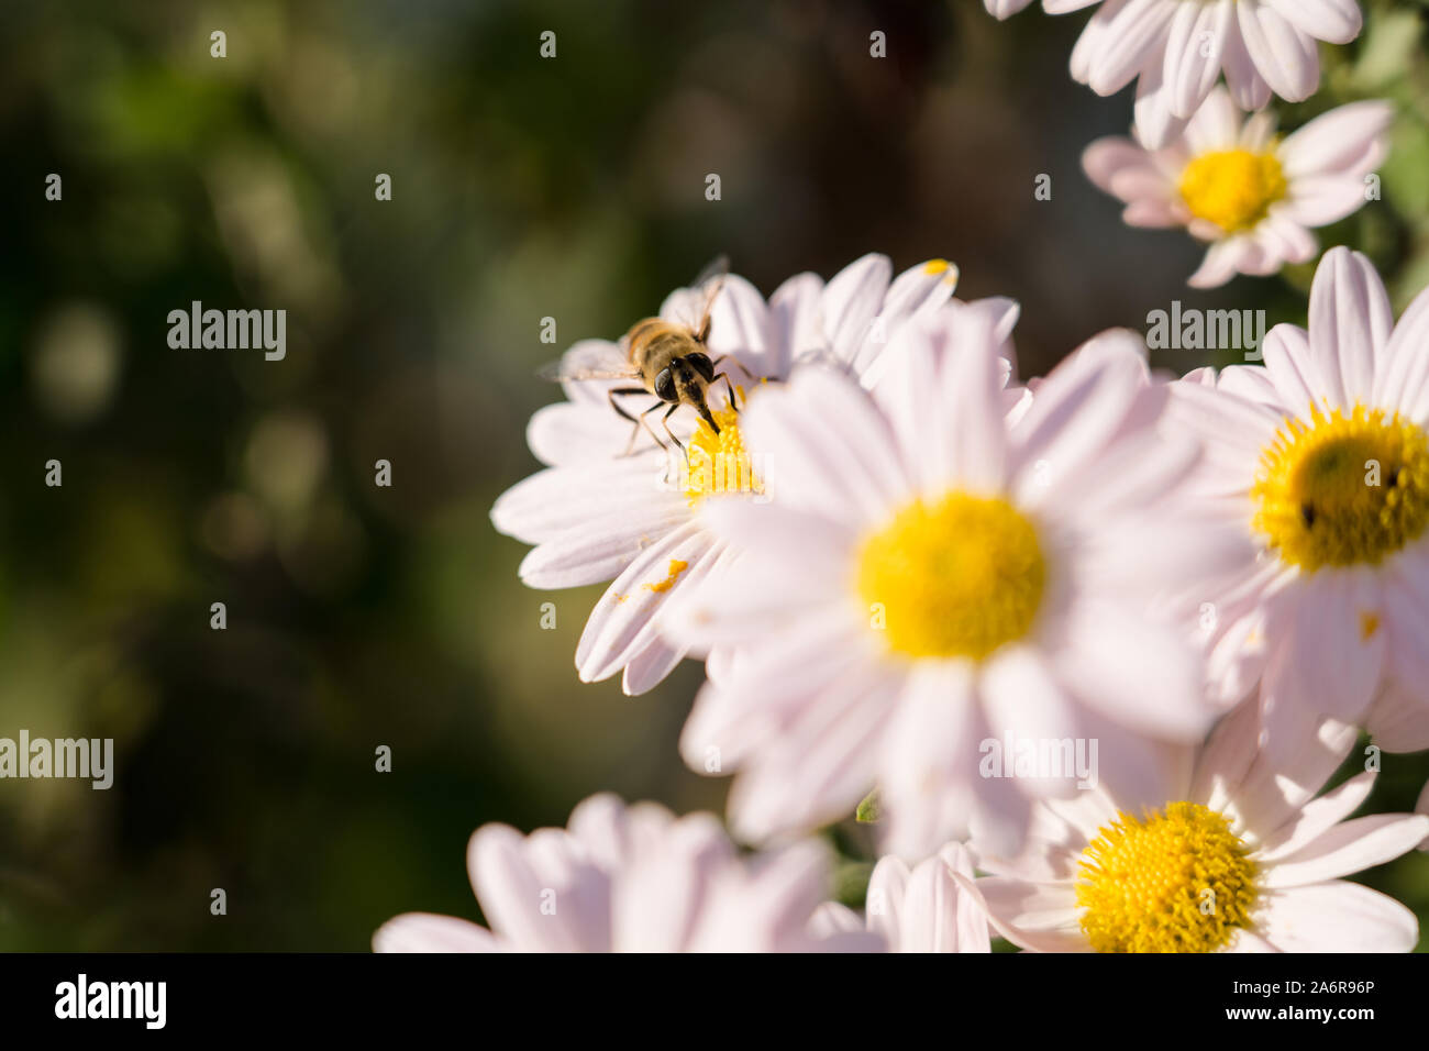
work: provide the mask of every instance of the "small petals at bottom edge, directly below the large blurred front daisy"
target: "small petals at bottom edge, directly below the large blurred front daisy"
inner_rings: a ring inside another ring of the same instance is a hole
[[[912,868],[902,858],[879,859],[869,877],[863,915],[827,902],[815,929],[829,934],[869,929],[889,952],[992,952],[987,914],[955,874],[973,878],[973,855],[963,844],[947,844]]]

